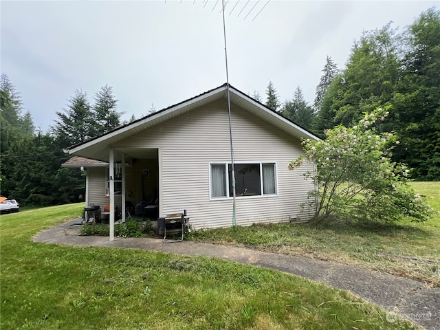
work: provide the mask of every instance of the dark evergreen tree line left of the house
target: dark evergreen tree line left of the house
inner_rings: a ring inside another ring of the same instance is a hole
[[[122,112],[108,85],[90,104],[77,89],[47,133],[36,129],[29,111],[22,113],[20,94],[1,75],[1,195],[23,204],[50,206],[84,200],[85,179],[76,168],[62,168],[69,159],[63,148],[119,127]],[[132,117],[132,120],[134,118]]]

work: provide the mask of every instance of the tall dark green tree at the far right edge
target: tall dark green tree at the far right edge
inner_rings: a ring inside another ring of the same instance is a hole
[[[393,99],[400,144],[393,159],[414,168],[417,179],[440,179],[440,11],[423,12],[404,32],[406,54]]]

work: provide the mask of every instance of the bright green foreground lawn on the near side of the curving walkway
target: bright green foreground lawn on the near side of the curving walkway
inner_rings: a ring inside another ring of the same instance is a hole
[[[0,218],[1,329],[415,329],[348,292],[273,270],[33,243],[82,204]]]

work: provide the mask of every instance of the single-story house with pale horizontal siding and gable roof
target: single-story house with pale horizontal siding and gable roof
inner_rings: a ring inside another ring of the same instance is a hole
[[[126,201],[157,200],[159,217],[186,210],[195,229],[282,222],[311,214],[302,208],[311,165],[287,168],[303,153],[301,138],[318,140],[225,84],[67,148],[83,158],[65,166],[87,173],[86,205],[110,203],[110,239],[113,211]]]

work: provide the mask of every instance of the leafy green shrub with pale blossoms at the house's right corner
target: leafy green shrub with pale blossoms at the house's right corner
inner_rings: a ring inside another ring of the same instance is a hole
[[[396,221],[401,217],[424,221],[430,208],[408,184],[409,170],[390,161],[399,142],[393,133],[380,133],[388,111],[378,108],[365,113],[351,127],[326,131],[326,140],[303,140],[304,156],[290,162],[298,168],[314,163],[305,173],[314,182],[315,219],[338,217],[351,221]]]

